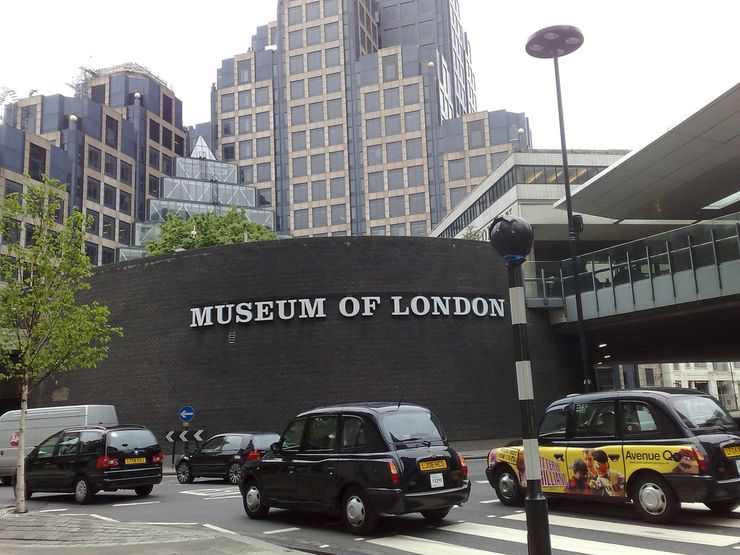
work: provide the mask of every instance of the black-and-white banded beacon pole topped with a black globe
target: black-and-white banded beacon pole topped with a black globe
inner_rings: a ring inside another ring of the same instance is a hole
[[[488,230],[493,248],[504,258],[509,276],[509,310],[514,328],[514,351],[519,412],[522,418],[524,471],[527,475],[527,496],[524,511],[527,517],[527,547],[530,555],[550,555],[550,524],[547,499],[542,494],[540,448],[534,424],[534,383],[527,341],[527,309],[524,304],[522,264],[532,249],[532,226],[523,218],[500,216]]]

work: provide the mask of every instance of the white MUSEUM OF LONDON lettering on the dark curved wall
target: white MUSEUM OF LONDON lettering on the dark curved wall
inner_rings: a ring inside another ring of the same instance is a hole
[[[316,320],[336,314],[343,318],[482,318],[502,319],[504,299],[497,296],[358,295],[336,299],[245,300],[190,309],[190,327],[255,324],[279,320]]]

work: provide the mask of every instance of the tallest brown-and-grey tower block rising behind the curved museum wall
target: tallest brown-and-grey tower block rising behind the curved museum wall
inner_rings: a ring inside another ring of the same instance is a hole
[[[427,235],[512,150],[476,113],[457,0],[279,0],[223,60],[205,137],[293,236]]]

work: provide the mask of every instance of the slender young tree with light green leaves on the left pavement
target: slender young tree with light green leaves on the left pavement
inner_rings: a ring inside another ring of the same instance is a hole
[[[21,416],[16,468],[16,511],[26,512],[25,429],[28,397],[50,377],[94,368],[121,328],[93,301],[78,302],[90,288],[85,254],[85,217],[78,210],[57,222],[63,187],[54,179],[28,180],[22,194],[0,201],[0,379],[18,386]],[[61,218],[59,218],[61,219]],[[28,226],[31,226],[30,228]],[[20,230],[31,229],[26,245]],[[29,241],[30,237],[30,241]]]

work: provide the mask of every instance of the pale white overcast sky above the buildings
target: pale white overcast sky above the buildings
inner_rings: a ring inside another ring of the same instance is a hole
[[[583,46],[560,60],[568,148],[634,149],[740,81],[740,3],[727,0],[459,0],[478,109],[529,117],[535,148],[559,148],[552,61],[529,57],[542,27],[575,25]],[[71,95],[79,66],[136,62],[183,101],[184,123],[209,118],[221,60],[245,52],[276,0],[3,2],[0,88]],[[176,33],[177,31],[178,33]],[[193,42],[197,40],[198,42]]]

